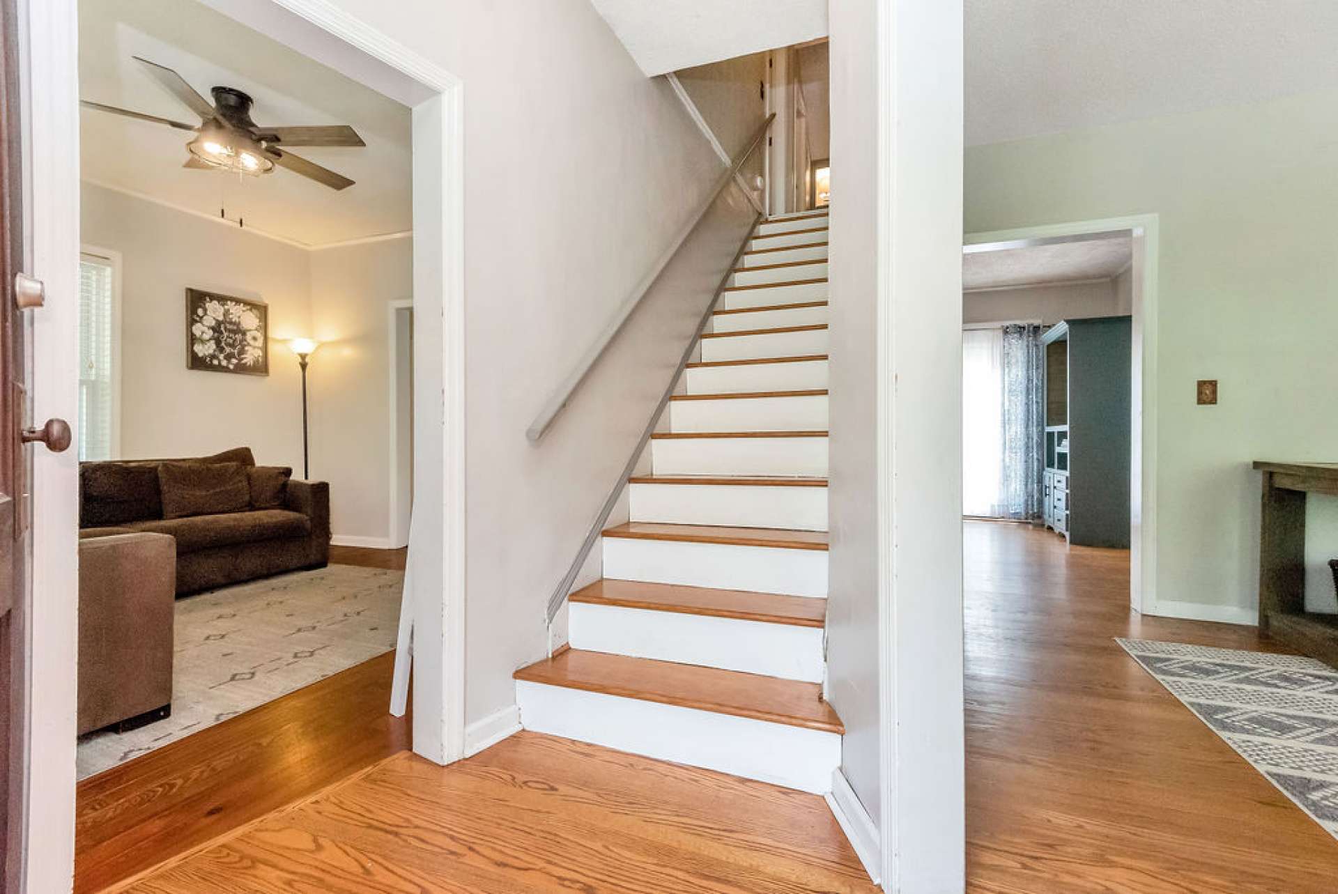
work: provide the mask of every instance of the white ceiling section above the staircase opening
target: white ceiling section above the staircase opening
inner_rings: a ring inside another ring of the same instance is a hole
[[[648,76],[827,36],[827,0],[590,0]]]

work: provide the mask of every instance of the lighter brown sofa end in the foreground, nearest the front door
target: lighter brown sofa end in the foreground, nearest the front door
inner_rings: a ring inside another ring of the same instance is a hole
[[[79,735],[171,713],[177,545],[166,534],[79,542]]]

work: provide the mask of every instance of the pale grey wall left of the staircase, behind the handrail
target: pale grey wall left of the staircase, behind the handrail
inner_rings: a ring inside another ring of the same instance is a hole
[[[545,654],[550,592],[668,383],[673,333],[729,257],[680,276],[677,313],[634,320],[538,446],[526,428],[700,206],[720,161],[587,0],[337,5],[464,86],[466,703],[476,721],[514,704],[511,673]],[[729,215],[744,221],[736,229],[752,219],[741,198]]]

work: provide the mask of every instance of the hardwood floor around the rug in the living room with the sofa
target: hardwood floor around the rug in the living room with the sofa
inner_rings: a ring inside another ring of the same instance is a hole
[[[403,553],[332,547],[330,561],[403,567]],[[409,719],[387,713],[393,657],[79,783],[75,894],[100,891],[408,748]]]

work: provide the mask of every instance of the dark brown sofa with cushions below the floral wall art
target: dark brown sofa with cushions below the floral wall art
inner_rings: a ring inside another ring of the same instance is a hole
[[[258,467],[249,447],[80,463],[80,538],[170,534],[177,594],[329,562],[329,484]]]

